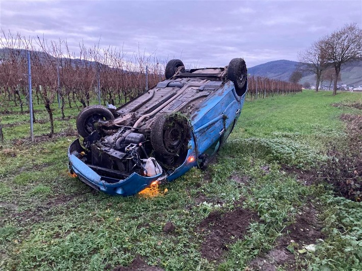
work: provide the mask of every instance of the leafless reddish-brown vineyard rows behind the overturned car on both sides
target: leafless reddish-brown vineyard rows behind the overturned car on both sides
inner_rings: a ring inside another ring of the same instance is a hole
[[[72,108],[86,107],[92,99],[99,103],[120,105],[164,80],[168,59],[154,54],[132,54],[108,47],[85,47],[80,44],[76,55],[66,41],[47,42],[44,39],[26,39],[9,33],[0,38],[0,108],[9,111],[12,104],[29,104],[28,51],[30,51],[33,100],[43,103],[49,114],[54,133],[53,110],[58,100],[64,118],[66,104]],[[187,67],[190,68],[190,67]],[[251,99],[301,92],[301,85],[266,77],[248,77],[248,95]],[[77,104],[77,102],[79,104]]]

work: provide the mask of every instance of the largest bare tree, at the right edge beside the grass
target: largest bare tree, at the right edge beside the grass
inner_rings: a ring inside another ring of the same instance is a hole
[[[337,81],[342,64],[362,56],[362,29],[356,23],[346,24],[324,41],[327,59],[334,67],[333,95],[337,94]]]

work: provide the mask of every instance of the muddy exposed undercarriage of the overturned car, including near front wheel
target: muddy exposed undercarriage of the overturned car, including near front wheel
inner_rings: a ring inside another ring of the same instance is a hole
[[[135,170],[149,174],[145,164],[150,157],[164,168],[176,167],[187,154],[190,117],[222,83],[190,78],[164,81],[147,96],[116,111],[120,114],[116,119],[106,121],[99,116],[94,123],[97,116],[93,115],[88,129],[95,130],[84,139],[91,152],[82,160],[96,171],[107,169],[114,177],[125,177]],[[97,106],[92,108],[99,111]]]

